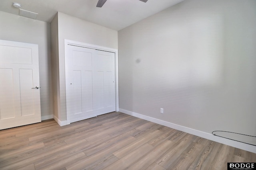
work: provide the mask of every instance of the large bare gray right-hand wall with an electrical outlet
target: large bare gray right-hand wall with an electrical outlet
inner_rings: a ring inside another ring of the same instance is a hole
[[[255,18],[255,0],[185,0],[118,31],[119,108],[256,136]]]

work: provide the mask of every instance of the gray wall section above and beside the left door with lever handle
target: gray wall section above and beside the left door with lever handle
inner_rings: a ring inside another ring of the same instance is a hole
[[[0,11],[0,39],[38,44],[41,115],[52,118],[50,23]]]

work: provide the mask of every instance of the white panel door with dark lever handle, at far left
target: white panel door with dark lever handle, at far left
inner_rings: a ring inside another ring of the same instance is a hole
[[[39,87],[38,45],[0,40],[0,129],[41,121]]]

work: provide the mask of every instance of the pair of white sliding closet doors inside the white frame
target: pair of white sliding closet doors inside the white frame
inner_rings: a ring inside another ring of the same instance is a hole
[[[68,45],[65,67],[68,123],[115,111],[114,53]]]

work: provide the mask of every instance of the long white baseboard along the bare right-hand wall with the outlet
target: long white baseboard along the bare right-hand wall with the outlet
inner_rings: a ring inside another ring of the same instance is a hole
[[[190,133],[190,134],[196,135],[198,137],[202,137],[202,138],[205,138],[205,139],[209,139],[211,141],[222,143],[224,145],[229,145],[231,147],[235,147],[235,148],[239,148],[239,149],[247,150],[249,152],[256,153],[256,147],[253,146],[253,145],[248,145],[248,144],[245,144],[245,143],[232,141],[230,139],[225,139],[225,138],[222,138],[222,137],[218,137],[218,136],[212,135],[210,133],[198,131],[196,129],[191,129],[191,128],[184,127],[184,126],[181,126],[181,125],[176,125],[174,123],[170,123],[170,122],[167,122],[167,121],[163,121],[163,120],[160,120],[160,119],[156,119],[156,118],[153,118],[153,117],[149,117],[149,116],[146,116],[146,115],[135,113],[135,112],[132,112],[132,111],[128,111],[128,110],[124,110],[124,109],[120,109],[120,108],[119,108],[119,111],[122,112],[122,113],[126,113],[128,115],[132,115],[134,117],[138,117],[140,119],[144,119],[144,120],[147,120],[147,121],[151,121],[151,122],[154,122],[154,123],[157,123],[157,124],[160,124],[160,125],[170,127],[172,129],[177,129],[179,131]]]

